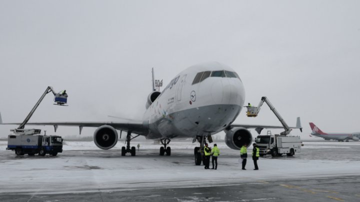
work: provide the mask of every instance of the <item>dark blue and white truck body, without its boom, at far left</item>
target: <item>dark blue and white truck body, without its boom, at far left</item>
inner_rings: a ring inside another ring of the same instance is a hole
[[[14,135],[7,137],[8,150],[15,150],[16,155],[57,155],[62,152],[62,138],[56,135]]]

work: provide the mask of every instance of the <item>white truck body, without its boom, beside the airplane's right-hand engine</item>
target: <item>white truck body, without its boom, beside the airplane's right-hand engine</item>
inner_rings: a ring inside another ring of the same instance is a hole
[[[281,156],[282,154],[292,156],[296,152],[301,152],[301,140],[299,136],[285,135],[258,135],[255,138],[259,148],[259,155],[271,154]]]

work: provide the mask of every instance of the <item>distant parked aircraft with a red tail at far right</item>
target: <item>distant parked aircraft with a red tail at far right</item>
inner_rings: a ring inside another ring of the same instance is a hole
[[[337,141],[348,141],[354,140],[358,141],[360,138],[360,132],[352,132],[352,133],[326,133],[320,130],[313,122],[309,122],[310,128],[312,130],[311,135],[322,137],[325,140],[334,139]]]

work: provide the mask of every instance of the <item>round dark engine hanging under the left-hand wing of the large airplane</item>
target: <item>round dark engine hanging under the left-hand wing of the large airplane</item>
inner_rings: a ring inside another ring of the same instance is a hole
[[[117,143],[117,131],[110,125],[101,125],[94,132],[94,142],[101,149],[112,148]]]

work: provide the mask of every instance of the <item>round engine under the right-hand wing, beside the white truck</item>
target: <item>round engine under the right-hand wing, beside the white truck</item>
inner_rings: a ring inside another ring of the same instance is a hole
[[[244,127],[233,127],[225,131],[225,143],[228,147],[236,150],[240,150],[243,144],[247,147],[252,142],[252,135],[248,129]]]

